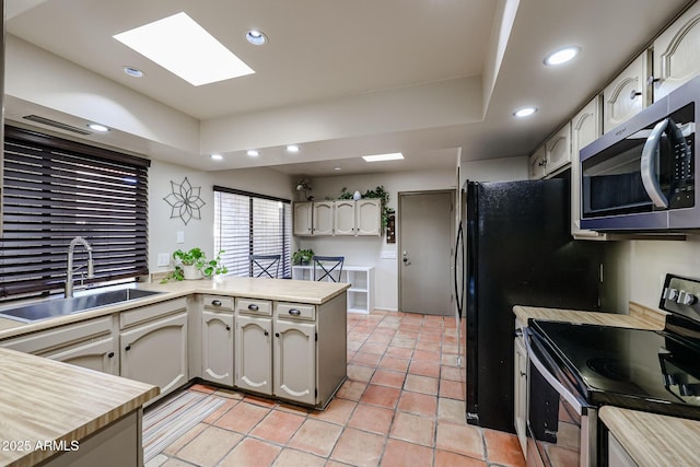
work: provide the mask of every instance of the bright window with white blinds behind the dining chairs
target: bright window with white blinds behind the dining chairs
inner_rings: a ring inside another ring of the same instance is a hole
[[[291,278],[291,201],[214,186],[214,252],[232,276],[250,275],[250,255],[281,255],[280,278]]]

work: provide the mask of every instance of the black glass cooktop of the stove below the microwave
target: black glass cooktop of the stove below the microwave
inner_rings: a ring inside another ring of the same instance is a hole
[[[700,419],[700,352],[666,331],[532,323],[592,405]]]

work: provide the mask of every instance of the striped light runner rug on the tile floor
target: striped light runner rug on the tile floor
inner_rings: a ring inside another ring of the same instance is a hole
[[[143,415],[143,462],[147,463],[175,440],[217,410],[223,399],[185,392]]]

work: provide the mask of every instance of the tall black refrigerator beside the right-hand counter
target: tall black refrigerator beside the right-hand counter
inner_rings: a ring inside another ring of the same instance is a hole
[[[513,433],[513,305],[598,311],[604,245],[572,238],[567,176],[465,188],[467,422]]]

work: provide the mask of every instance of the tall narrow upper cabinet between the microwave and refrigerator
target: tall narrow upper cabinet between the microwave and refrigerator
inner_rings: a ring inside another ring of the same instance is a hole
[[[603,132],[600,97],[596,96],[571,120],[571,235],[603,240],[605,234],[581,229],[581,162],[579,152]]]

